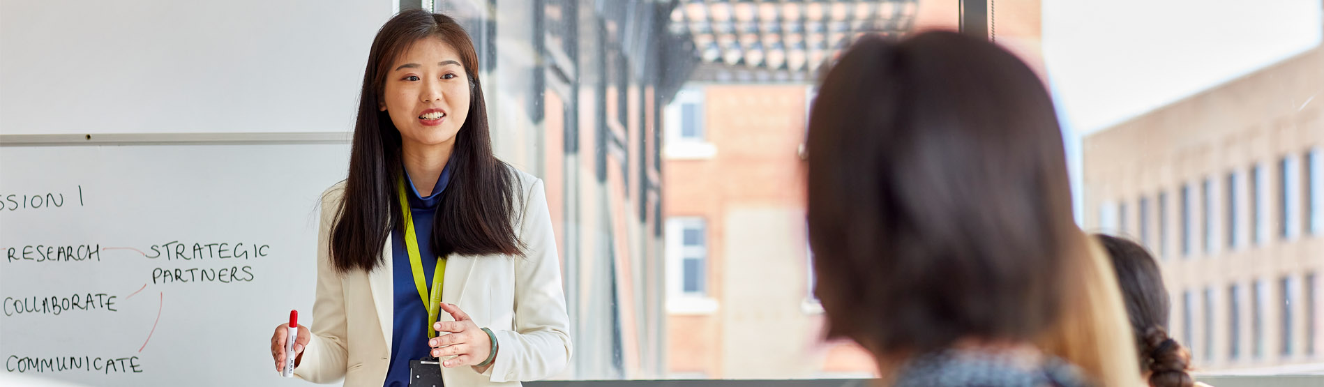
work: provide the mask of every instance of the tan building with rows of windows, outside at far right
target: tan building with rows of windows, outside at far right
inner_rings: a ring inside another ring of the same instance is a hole
[[[1324,370],[1320,98],[1315,48],[1084,139],[1084,224],[1160,258],[1198,370]]]

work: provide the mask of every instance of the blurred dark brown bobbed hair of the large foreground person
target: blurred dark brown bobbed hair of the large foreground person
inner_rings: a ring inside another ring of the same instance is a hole
[[[863,37],[818,93],[809,239],[829,337],[875,354],[1030,341],[1084,257],[1038,77],[949,32]]]

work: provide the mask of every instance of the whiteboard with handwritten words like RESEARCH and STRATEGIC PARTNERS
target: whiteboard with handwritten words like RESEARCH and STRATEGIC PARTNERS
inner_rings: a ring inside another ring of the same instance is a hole
[[[291,309],[311,319],[318,199],[348,155],[347,143],[0,146],[0,384],[306,384],[277,375],[269,341]],[[61,309],[40,306],[52,297]],[[68,370],[19,372],[24,358]]]

